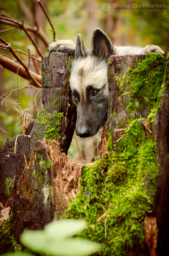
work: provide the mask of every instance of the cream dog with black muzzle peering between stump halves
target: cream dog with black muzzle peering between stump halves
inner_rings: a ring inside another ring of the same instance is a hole
[[[76,135],[85,138],[95,135],[107,120],[108,82],[107,59],[111,55],[146,54],[164,51],[157,45],[117,46],[100,29],[95,28],[90,50],[84,46],[81,34],[74,44],[71,40],[56,40],[49,52],[73,55],[70,87],[77,109]]]

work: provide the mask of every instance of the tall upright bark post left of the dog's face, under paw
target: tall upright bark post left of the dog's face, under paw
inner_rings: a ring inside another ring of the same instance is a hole
[[[66,53],[52,52],[44,58],[42,65],[44,110],[38,114],[30,134],[30,155],[35,142],[44,138],[57,139],[61,151],[66,154],[68,152],[76,121],[76,109],[69,87],[69,67],[70,58]],[[54,129],[56,126],[57,132]]]

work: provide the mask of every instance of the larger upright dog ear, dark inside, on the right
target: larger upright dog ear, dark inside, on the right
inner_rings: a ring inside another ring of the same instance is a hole
[[[103,59],[117,54],[110,38],[98,27],[92,35],[92,54]]]

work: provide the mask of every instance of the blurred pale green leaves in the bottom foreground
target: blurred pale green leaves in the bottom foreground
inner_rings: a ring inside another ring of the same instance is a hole
[[[44,230],[25,230],[20,241],[25,247],[47,255],[83,256],[102,249],[98,243],[71,236],[77,235],[86,228],[84,220],[61,220],[50,222]],[[10,256],[16,254],[10,254]],[[7,254],[7,256],[9,256]],[[22,255],[21,256],[25,256]]]

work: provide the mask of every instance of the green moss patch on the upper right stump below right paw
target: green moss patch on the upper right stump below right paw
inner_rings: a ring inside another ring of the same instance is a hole
[[[164,90],[164,74],[166,62],[160,53],[149,53],[136,69],[131,67],[123,76],[117,77],[123,92],[125,106],[129,113],[139,111],[145,113],[160,104],[160,95]]]

